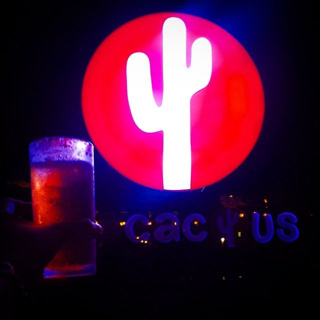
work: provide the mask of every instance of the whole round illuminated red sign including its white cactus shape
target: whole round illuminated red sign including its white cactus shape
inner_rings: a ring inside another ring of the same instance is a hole
[[[263,88],[246,50],[189,14],[127,22],[97,48],[82,87],[88,132],[129,179],[165,190],[212,184],[237,168],[263,121]]]

